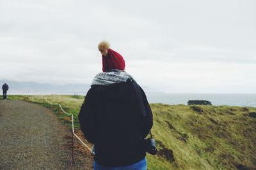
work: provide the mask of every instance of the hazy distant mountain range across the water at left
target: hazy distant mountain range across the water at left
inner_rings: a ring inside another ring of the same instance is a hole
[[[4,82],[8,84],[9,92],[87,92],[90,89],[89,84],[52,85],[8,80],[0,80],[0,85],[2,86]]]

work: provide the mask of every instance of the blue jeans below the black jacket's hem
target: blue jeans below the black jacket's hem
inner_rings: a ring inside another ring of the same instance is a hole
[[[94,161],[93,169],[94,170],[147,170],[147,160],[145,158],[135,164],[131,164],[129,166],[120,166],[120,167],[100,166]]]

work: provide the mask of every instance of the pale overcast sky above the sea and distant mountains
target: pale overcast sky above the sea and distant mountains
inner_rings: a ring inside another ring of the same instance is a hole
[[[154,92],[256,93],[256,1],[0,1],[0,80],[91,83],[108,40]]]

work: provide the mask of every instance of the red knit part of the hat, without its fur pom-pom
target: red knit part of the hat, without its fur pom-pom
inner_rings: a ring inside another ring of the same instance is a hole
[[[109,69],[125,69],[125,61],[122,55],[108,48],[108,55],[102,55],[102,71],[106,72]]]

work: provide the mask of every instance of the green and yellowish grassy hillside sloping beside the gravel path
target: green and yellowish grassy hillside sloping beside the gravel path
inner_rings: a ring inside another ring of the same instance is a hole
[[[76,116],[83,103],[81,96],[45,97],[52,103],[61,103]],[[28,100],[43,103],[42,96]],[[256,108],[150,106],[154,114],[152,133],[159,153],[147,155],[148,169],[256,169]],[[58,112],[54,106],[52,109]],[[65,117],[60,118],[70,124]],[[76,127],[79,128],[78,122]]]

